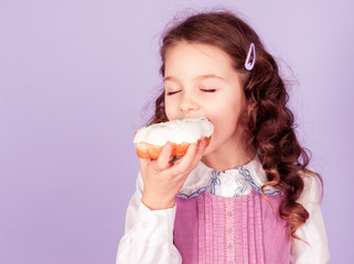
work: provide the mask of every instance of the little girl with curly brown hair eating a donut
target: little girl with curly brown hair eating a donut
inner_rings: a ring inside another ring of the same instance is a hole
[[[210,145],[140,158],[119,264],[326,263],[321,177],[296,136],[273,57],[230,12],[192,15],[161,46],[150,123],[207,118]]]

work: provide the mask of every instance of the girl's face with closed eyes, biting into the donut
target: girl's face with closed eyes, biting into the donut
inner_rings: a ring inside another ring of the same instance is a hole
[[[240,121],[247,101],[226,53],[212,45],[180,42],[167,53],[163,84],[169,120],[204,117],[214,124],[204,156],[225,157],[244,146]]]

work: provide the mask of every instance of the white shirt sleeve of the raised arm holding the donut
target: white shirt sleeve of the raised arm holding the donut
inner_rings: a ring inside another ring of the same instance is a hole
[[[150,210],[141,202],[142,186],[139,173],[137,189],[127,209],[125,235],[119,242],[116,264],[181,264],[182,257],[173,244],[176,206]]]

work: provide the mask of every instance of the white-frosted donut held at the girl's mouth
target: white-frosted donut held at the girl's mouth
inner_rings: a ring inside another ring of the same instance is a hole
[[[171,142],[171,158],[183,156],[191,143],[211,142],[214,125],[205,118],[178,119],[143,127],[135,133],[133,143],[140,158],[157,160],[162,146]]]

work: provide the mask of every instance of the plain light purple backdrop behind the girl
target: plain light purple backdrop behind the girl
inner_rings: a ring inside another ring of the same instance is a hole
[[[0,1],[0,263],[115,263],[139,170],[132,135],[161,86],[160,33],[186,8],[218,6],[181,2]],[[324,179],[331,263],[352,263],[353,3],[222,7],[288,73],[299,139]]]

